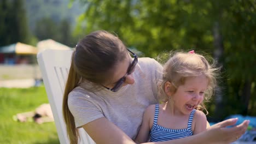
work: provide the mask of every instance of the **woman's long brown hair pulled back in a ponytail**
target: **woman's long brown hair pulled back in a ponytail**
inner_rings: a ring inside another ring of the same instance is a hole
[[[106,31],[87,35],[75,47],[62,102],[62,113],[70,143],[78,143],[79,133],[75,128],[74,117],[68,109],[68,94],[80,81],[89,83],[83,84],[83,88],[89,92],[102,88],[101,84],[109,80],[115,65],[127,55],[129,54],[123,42]]]

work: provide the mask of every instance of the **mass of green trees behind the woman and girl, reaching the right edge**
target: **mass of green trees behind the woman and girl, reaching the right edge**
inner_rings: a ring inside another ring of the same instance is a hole
[[[210,113],[219,119],[235,113],[256,114],[253,112],[256,105],[254,0],[84,0],[82,3],[86,9],[78,19],[75,34],[105,29],[149,57],[178,49],[210,53],[223,67],[222,89],[212,104],[208,104]]]

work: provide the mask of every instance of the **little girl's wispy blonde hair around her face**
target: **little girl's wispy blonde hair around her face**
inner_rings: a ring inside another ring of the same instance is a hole
[[[170,59],[164,64],[162,81],[159,85],[160,102],[168,101],[168,95],[165,92],[166,82],[171,82],[174,88],[171,91],[176,92],[179,86],[184,85],[187,77],[205,75],[209,80],[208,87],[204,100],[196,109],[205,110],[208,114],[204,102],[209,101],[213,95],[214,88],[217,86],[217,71],[219,71],[214,60],[211,59],[210,64],[210,59],[208,62],[205,57],[194,52],[171,52],[169,57]]]

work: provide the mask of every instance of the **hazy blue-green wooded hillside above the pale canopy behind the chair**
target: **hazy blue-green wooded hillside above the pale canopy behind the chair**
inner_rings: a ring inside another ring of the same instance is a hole
[[[53,39],[59,43],[74,47],[76,37],[72,35],[75,18],[82,8],[77,2],[69,0],[26,0],[28,24],[38,40]]]

